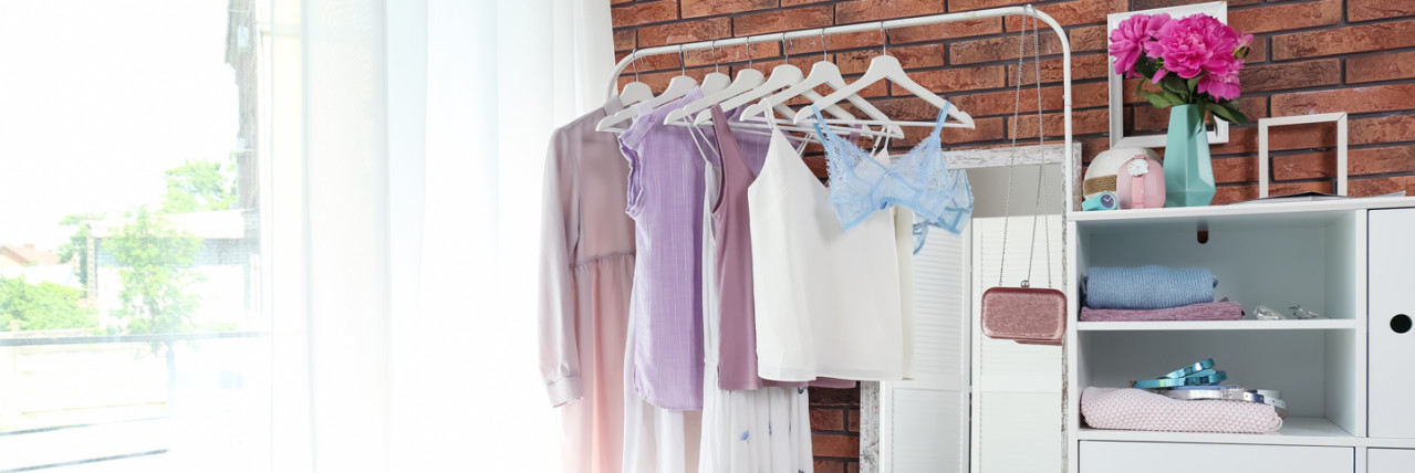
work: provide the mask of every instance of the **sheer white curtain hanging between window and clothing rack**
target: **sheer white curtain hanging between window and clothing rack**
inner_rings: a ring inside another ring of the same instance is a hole
[[[601,0],[273,0],[282,472],[552,472],[535,261],[549,133],[599,106]]]

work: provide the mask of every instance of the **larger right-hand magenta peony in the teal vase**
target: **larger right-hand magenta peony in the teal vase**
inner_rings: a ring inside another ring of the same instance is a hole
[[[1152,80],[1159,82],[1166,75],[1165,69],[1184,79],[1203,72],[1237,73],[1237,68],[1242,66],[1241,62],[1234,65],[1238,59],[1232,52],[1238,44],[1238,32],[1210,16],[1196,14],[1166,23],[1159,31],[1159,41],[1146,51],[1165,59],[1165,68]]]

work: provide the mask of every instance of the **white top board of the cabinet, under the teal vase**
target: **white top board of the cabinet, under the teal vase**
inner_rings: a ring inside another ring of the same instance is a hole
[[[1343,200],[1319,200],[1319,202],[1276,202],[1276,203],[1240,203],[1240,205],[1214,205],[1214,206],[1199,206],[1199,208],[1163,208],[1163,209],[1128,209],[1128,210],[1092,210],[1092,212],[1067,212],[1067,219],[1077,222],[1078,224],[1087,226],[1107,226],[1115,223],[1133,223],[1133,222],[1172,222],[1172,223],[1186,223],[1186,222],[1208,222],[1211,219],[1217,220],[1232,220],[1232,222],[1302,222],[1302,220],[1322,220],[1324,216],[1312,213],[1332,213],[1336,215],[1346,210],[1358,209],[1385,209],[1385,208],[1408,208],[1415,206],[1415,198],[1395,196],[1395,198],[1361,198],[1361,199],[1343,199]],[[1306,213],[1306,215],[1305,215]]]

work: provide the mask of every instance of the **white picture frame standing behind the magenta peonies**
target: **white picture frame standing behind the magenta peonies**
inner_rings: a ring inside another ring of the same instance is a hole
[[[1105,45],[1109,49],[1111,34],[1121,21],[1136,14],[1159,14],[1167,13],[1173,18],[1183,18],[1193,14],[1207,14],[1210,17],[1218,18],[1224,24],[1228,24],[1228,3],[1227,1],[1211,1],[1187,4],[1179,7],[1167,8],[1153,8],[1140,11],[1125,11],[1112,13],[1105,17]],[[1109,80],[1111,92],[1111,148],[1163,148],[1165,136],[1163,134],[1149,134],[1149,136],[1125,136],[1125,80],[1121,75],[1115,73],[1115,58],[1109,54],[1105,55],[1105,76]],[[1228,121],[1214,119],[1214,128],[1208,131],[1208,144],[1223,144],[1228,143]]]

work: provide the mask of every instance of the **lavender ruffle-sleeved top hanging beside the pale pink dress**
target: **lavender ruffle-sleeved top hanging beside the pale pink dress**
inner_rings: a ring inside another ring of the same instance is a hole
[[[703,164],[692,131],[665,126],[664,117],[702,96],[693,89],[657,110],[637,104],[638,119],[620,134],[638,249],[630,301],[634,391],[675,411],[703,408]]]

